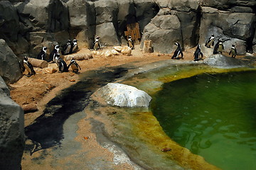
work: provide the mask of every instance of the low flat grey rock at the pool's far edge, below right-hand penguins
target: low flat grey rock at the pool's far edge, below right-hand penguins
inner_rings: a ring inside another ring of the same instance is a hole
[[[233,57],[226,57],[224,55],[211,55],[203,60],[203,64],[208,64],[210,66],[219,68],[235,68],[245,66],[245,63],[243,63],[241,60],[234,59]]]

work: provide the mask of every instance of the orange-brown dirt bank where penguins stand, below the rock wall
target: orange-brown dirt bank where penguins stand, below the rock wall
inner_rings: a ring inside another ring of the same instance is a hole
[[[108,47],[105,50],[111,50],[112,47]],[[183,60],[193,60],[193,52],[195,49],[190,49],[184,51]],[[85,54],[90,52],[86,48],[81,48],[76,54]],[[80,60],[77,61],[81,67],[80,73],[87,72],[89,70],[100,69],[101,67],[114,67],[121,64],[132,63],[134,66],[139,66],[143,64],[148,64],[151,62],[157,62],[161,60],[171,60],[170,55],[164,55],[160,53],[143,53],[139,50],[139,45],[135,47],[135,50],[132,50],[132,55],[112,55],[110,57],[105,57],[104,55],[92,55],[93,58],[89,60]],[[70,61],[67,62],[69,64]],[[48,67],[53,67],[58,70],[57,64],[50,63]],[[42,109],[43,106],[50,101],[51,98],[55,96],[56,93],[62,89],[75,84],[79,80],[79,74],[72,72],[71,68],[69,72],[54,72],[50,74],[46,72],[46,69],[34,68],[36,75],[32,77],[24,76],[19,79],[15,84],[9,84],[11,90],[11,98],[18,103],[21,107],[24,107],[28,104],[34,103],[38,106],[38,110]],[[28,113],[25,115],[25,125],[29,125],[36,118],[37,115]],[[31,121],[30,120],[32,117]]]

